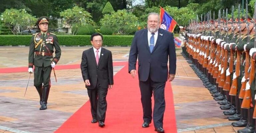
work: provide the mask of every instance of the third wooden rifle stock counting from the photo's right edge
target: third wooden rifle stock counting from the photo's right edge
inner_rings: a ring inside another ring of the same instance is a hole
[[[247,52],[245,52],[245,68],[244,68],[244,72],[245,72],[244,78],[245,79],[249,78],[249,73],[248,73],[249,65],[250,65],[249,63],[250,63],[250,61],[249,61],[249,51],[247,51]],[[239,99],[244,99],[245,87],[246,87],[246,81],[242,82],[242,86],[241,86],[240,93],[239,93],[239,96],[238,96]]]

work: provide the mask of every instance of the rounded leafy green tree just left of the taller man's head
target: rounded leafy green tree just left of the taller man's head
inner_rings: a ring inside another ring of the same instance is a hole
[[[100,20],[100,24],[111,27],[114,33],[122,35],[135,32],[139,26],[138,18],[126,10],[118,10],[111,15],[105,14]]]

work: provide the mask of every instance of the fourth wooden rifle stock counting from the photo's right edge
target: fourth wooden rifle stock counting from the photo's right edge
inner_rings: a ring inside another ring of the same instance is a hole
[[[241,52],[237,51],[237,58],[236,58],[237,64],[236,64],[236,69],[235,69],[236,78],[234,80],[232,80],[232,85],[231,85],[230,91],[229,91],[229,95],[231,95],[231,96],[237,95],[237,78],[240,74],[240,54],[241,54]]]

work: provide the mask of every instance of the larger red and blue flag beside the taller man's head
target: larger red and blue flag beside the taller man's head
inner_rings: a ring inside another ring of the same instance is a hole
[[[177,22],[162,7],[160,8],[160,28],[173,33]]]

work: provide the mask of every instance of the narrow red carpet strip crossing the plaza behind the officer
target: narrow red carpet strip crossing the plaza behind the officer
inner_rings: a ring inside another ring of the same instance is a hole
[[[113,62],[114,66],[123,66],[126,62]],[[56,65],[55,70],[62,70],[62,69],[78,69],[80,68],[80,64],[74,65]],[[12,67],[12,68],[0,68],[0,73],[18,73],[18,72],[27,72],[28,67]]]

